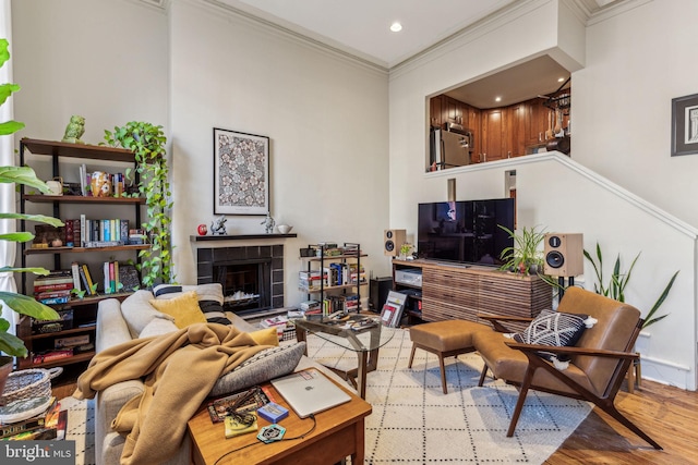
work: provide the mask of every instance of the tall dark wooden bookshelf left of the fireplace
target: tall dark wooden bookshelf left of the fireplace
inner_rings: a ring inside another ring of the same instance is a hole
[[[31,156],[29,156],[31,154]],[[135,168],[135,156],[131,150],[122,148],[113,148],[106,146],[95,146],[87,144],[68,144],[56,140],[40,140],[33,138],[22,138],[20,142],[20,164],[31,166],[33,160],[40,160],[47,157],[51,162],[52,176],[55,179],[62,179],[62,172],[64,171],[70,179],[70,170],[77,170],[80,163],[89,163],[98,166],[100,169],[107,169],[109,167],[113,172],[123,172],[129,168]],[[29,162],[27,162],[29,158]],[[82,173],[82,170],[81,170]],[[74,175],[72,176],[75,178]],[[83,180],[80,180],[84,182]],[[135,179],[137,184],[140,180]],[[20,209],[22,213],[27,213],[27,208],[31,208],[32,213],[41,213],[60,218],[63,222],[68,220],[83,220],[89,219],[91,221],[106,221],[121,219],[125,220],[127,228],[140,229],[141,212],[145,205],[145,199],[142,197],[97,197],[88,195],[40,195],[34,192],[27,192],[28,189],[22,185],[20,186]],[[72,206],[72,207],[71,207]],[[50,207],[50,208],[49,208]],[[89,211],[89,215],[85,215],[85,211]],[[79,211],[79,213],[76,213]],[[34,224],[31,221],[20,221],[21,231],[32,231]],[[71,223],[71,227],[75,223]],[[84,223],[83,223],[84,224]],[[17,325],[17,335],[24,341],[29,356],[26,358],[17,359],[17,368],[49,368],[61,365],[86,363],[94,356],[94,342],[96,331],[96,319],[99,302],[105,298],[118,298],[124,299],[131,294],[131,292],[111,292],[106,293],[104,290],[104,278],[100,280],[104,271],[104,262],[112,261],[119,257],[120,262],[127,262],[131,259],[139,261],[139,252],[149,248],[149,244],[131,244],[129,237],[122,237],[123,233],[119,232],[117,236],[111,236],[110,241],[95,240],[94,236],[89,237],[85,235],[87,231],[81,225],[80,231],[83,235],[74,234],[69,237],[70,232],[68,224],[62,230],[51,232],[51,234],[59,234],[62,237],[61,246],[46,246],[45,244],[22,244],[20,260],[21,266],[26,268],[27,266],[37,266],[38,261],[46,261],[46,257],[52,257],[52,266],[46,266],[53,270],[71,270],[72,262],[87,265],[93,281],[98,281],[97,293],[91,295],[86,293],[82,298],[71,295],[70,299],[65,303],[52,304],[59,314],[65,319],[57,320],[53,326],[37,327],[36,321],[33,321],[29,317],[23,317]],[[112,229],[113,231],[113,229]],[[34,232],[34,231],[32,231]],[[38,232],[38,228],[37,228]],[[95,232],[93,228],[89,232]],[[71,238],[73,241],[71,241]],[[104,246],[86,246],[88,243],[96,243],[100,241],[103,244],[109,244]],[[68,246],[68,243],[72,242],[72,246]],[[80,255],[75,255],[80,254]],[[44,257],[44,258],[41,258]],[[105,257],[109,257],[108,259]],[[128,257],[129,259],[123,259]],[[50,258],[49,258],[50,260]],[[45,266],[40,265],[39,266]],[[81,286],[85,289],[84,284]],[[35,286],[33,282],[28,282],[27,274],[21,274],[21,292],[25,295],[33,295]],[[112,291],[112,290],[110,290]],[[70,320],[65,317],[70,315]],[[70,321],[70,323],[69,323]],[[49,354],[58,355],[57,341],[65,341],[67,338],[73,338],[74,340],[87,341],[80,346],[73,347],[73,354],[63,357],[49,357]],[[43,360],[41,355],[45,360]]]

